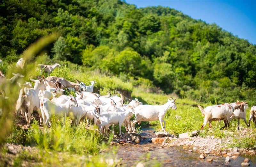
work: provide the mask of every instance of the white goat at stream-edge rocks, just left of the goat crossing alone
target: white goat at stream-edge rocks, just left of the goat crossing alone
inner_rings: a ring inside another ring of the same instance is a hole
[[[124,125],[124,127],[127,129],[126,125],[124,124],[124,120],[128,117],[130,112],[134,114],[133,108],[129,106],[129,110],[126,110],[124,112],[113,112],[113,111],[108,111],[108,112],[103,112],[100,115],[100,132],[104,135],[103,132],[103,126],[105,126],[105,129],[108,129],[110,125],[119,125],[119,135],[123,138],[121,134],[121,126]]]

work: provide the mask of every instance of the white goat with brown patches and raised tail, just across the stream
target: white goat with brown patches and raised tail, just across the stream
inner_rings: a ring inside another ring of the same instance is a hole
[[[244,112],[245,102],[236,102],[236,103],[224,103],[220,105],[212,105],[203,109],[200,105],[197,107],[201,110],[202,115],[204,115],[204,123],[201,127],[201,132],[204,129],[204,126],[209,122],[210,128],[212,128],[212,121],[224,120],[225,125],[221,128],[224,129],[227,125],[229,127],[230,117],[233,115],[234,110],[240,108]]]

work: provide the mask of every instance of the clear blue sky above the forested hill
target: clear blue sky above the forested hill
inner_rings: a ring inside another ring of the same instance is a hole
[[[216,23],[256,45],[256,0],[126,0],[126,3],[138,8],[168,6],[193,19]]]

